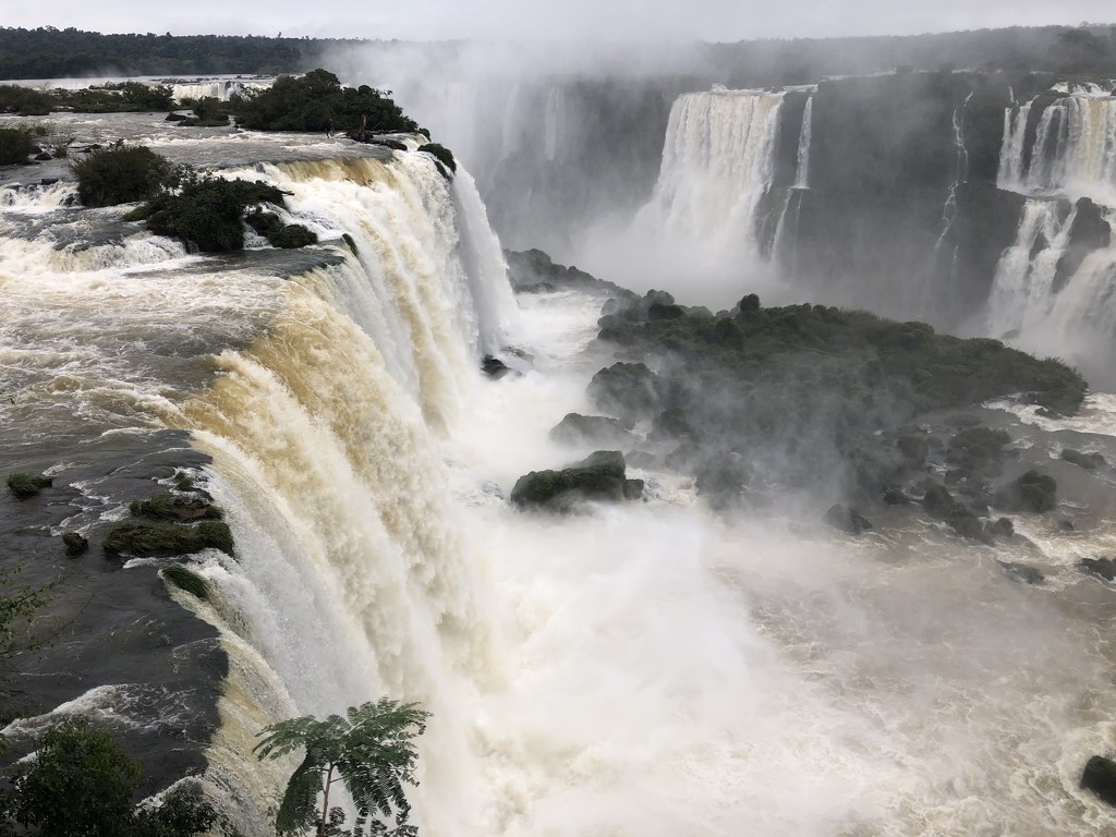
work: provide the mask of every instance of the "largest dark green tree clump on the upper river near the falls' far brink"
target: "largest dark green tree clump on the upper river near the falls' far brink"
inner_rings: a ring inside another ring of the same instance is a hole
[[[419,129],[386,93],[367,85],[341,87],[337,76],[324,69],[278,78],[267,89],[235,97],[232,108],[240,124],[257,131]]]

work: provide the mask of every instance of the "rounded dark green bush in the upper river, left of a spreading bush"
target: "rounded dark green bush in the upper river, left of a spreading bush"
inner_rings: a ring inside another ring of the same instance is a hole
[[[86,206],[115,206],[154,194],[170,177],[171,163],[143,145],[116,143],[74,163],[77,194]]]

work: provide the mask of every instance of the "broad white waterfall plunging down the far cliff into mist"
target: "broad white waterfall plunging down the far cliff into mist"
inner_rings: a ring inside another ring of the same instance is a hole
[[[654,196],[627,229],[590,240],[590,272],[713,308],[766,280],[756,210],[775,174],[782,98],[714,89],[675,99]]]

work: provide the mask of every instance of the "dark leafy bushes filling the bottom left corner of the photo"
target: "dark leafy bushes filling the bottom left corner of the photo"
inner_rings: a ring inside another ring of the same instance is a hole
[[[84,718],[50,728],[36,742],[36,757],[11,771],[11,787],[0,799],[4,834],[19,824],[42,837],[191,837],[218,831],[232,835],[228,820],[195,787],[179,786],[155,806],[132,797],[141,763],[119,750]],[[23,831],[21,831],[23,833]]]

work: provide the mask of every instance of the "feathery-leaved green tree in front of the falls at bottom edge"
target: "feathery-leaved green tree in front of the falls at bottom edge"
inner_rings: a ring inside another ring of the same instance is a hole
[[[417,785],[413,739],[426,730],[430,713],[416,703],[382,698],[375,703],[350,706],[347,718],[311,715],[271,724],[256,745],[259,759],[278,759],[305,748],[306,756],[287,782],[276,816],[276,830],[283,835],[316,828],[318,837],[333,834],[417,834],[407,825],[411,806],[404,782]],[[348,789],[357,807],[352,831],[343,831],[345,815],[329,808],[330,789],[338,781]],[[318,798],[321,804],[318,805]],[[394,819],[387,830],[385,820]],[[367,829],[367,831],[365,830]]]

